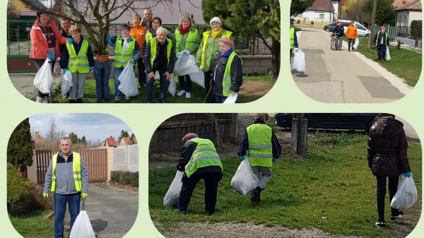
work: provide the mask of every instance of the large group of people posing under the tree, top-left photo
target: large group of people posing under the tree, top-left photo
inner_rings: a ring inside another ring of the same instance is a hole
[[[119,90],[119,75],[130,61],[138,70],[139,87],[146,87],[146,101],[153,102],[155,73],[159,75],[159,102],[165,102],[170,81],[173,77],[177,54],[193,55],[201,73],[204,74],[205,102],[224,102],[229,95],[236,95],[242,85],[242,60],[234,50],[232,32],[222,27],[220,18],[214,17],[209,25],[211,30],[199,32],[189,14],[182,14],[173,37],[163,28],[160,17],[153,17],[146,9],[143,18],[139,14],[131,16],[132,25],[123,24],[120,34],[114,37],[105,34],[105,42],[114,49],[114,99],[128,100]],[[81,29],[62,19],[62,32],[59,32],[49,13],[40,11],[30,32],[32,43],[30,58],[40,69],[45,59],[54,62],[60,57],[62,73],[72,73],[73,86],[67,95],[69,102],[82,102],[84,84],[88,73],[98,64]],[[110,71],[97,73],[97,102],[109,102]],[[104,76],[106,75],[106,76]],[[189,75],[178,76],[178,96],[192,97],[192,81]],[[48,94],[38,93],[37,102],[47,102]]]

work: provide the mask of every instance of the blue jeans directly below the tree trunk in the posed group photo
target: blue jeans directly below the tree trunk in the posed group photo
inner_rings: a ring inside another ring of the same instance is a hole
[[[109,102],[109,76],[112,69],[112,62],[105,63],[95,61],[94,77],[95,77],[95,93],[97,102]]]

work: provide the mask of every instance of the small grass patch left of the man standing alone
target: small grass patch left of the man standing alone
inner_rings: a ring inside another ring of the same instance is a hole
[[[52,237],[54,220],[45,219],[51,210],[37,210],[25,216],[12,216],[11,222],[16,231],[25,238]]]

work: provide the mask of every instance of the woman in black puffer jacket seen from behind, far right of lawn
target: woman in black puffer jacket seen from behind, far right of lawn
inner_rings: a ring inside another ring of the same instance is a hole
[[[386,177],[389,177],[389,201],[397,191],[399,175],[411,177],[406,150],[404,124],[389,114],[375,117],[368,136],[368,167],[377,177],[377,227],[385,227],[384,198],[386,196]],[[404,215],[403,211],[391,208],[390,220],[397,220]]]

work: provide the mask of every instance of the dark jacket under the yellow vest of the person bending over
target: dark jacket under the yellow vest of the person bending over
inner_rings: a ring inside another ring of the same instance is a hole
[[[197,143],[193,141],[187,141],[184,143],[184,145],[181,148],[181,155],[179,155],[177,169],[179,171],[184,171],[184,167],[189,162],[190,158],[192,158],[192,155],[194,153],[194,150],[196,150]],[[219,166],[207,166],[207,167],[201,167],[194,172],[194,174],[204,174],[204,173],[219,173],[222,174],[222,169]],[[187,177],[187,175],[184,173],[183,177]]]

